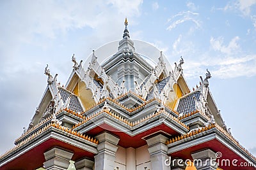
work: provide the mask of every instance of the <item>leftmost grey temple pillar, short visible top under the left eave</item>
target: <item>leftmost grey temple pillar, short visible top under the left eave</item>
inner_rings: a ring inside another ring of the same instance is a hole
[[[46,170],[67,170],[73,155],[74,153],[72,152],[67,152],[60,148],[52,148],[44,153],[46,160],[44,168]]]

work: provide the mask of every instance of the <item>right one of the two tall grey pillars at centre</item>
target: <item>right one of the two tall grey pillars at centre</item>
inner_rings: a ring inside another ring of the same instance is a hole
[[[167,155],[168,146],[165,145],[167,139],[162,134],[146,139],[152,170],[170,170],[170,166],[165,164],[166,159],[170,159]]]

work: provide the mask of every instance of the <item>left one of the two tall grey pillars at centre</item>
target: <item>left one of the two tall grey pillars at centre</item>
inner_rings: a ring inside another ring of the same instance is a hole
[[[115,165],[115,153],[117,150],[117,144],[119,139],[104,132],[95,136],[99,140],[99,145],[97,146],[98,154],[94,156],[95,169],[97,170],[113,170]]]

